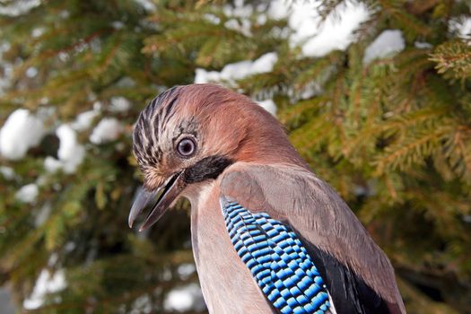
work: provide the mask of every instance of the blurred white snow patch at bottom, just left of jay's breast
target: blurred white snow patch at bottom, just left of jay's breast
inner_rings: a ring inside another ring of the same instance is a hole
[[[203,294],[196,283],[190,283],[187,286],[173,289],[167,294],[163,301],[165,310],[186,311],[197,308]]]

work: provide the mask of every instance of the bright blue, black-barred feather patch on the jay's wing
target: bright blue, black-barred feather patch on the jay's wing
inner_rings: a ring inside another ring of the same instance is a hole
[[[235,202],[221,203],[232,245],[275,309],[283,314],[326,313],[326,285],[291,228]]]

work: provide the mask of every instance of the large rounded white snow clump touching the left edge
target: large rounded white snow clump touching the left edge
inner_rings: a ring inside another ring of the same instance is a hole
[[[9,160],[22,159],[40,143],[46,130],[42,120],[27,109],[16,109],[0,130],[0,153]]]

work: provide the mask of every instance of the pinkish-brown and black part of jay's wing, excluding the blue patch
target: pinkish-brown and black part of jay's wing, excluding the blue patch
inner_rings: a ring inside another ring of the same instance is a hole
[[[220,188],[223,213],[224,202],[232,202],[251,215],[266,215],[301,241],[336,313],[406,313],[388,257],[340,196],[312,172],[237,162],[222,174]]]

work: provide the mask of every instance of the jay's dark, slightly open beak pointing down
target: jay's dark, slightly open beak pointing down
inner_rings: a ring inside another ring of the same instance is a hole
[[[151,214],[147,216],[139,231],[144,231],[157,222],[161,216],[167,211],[167,208],[179,196],[181,191],[186,187],[185,181],[182,179],[183,171],[171,176],[161,187],[147,191],[143,189],[135,198],[135,202],[129,212],[129,227],[133,226],[135,218],[141,214],[145,207],[152,204],[160,193],[157,203],[153,206]]]

